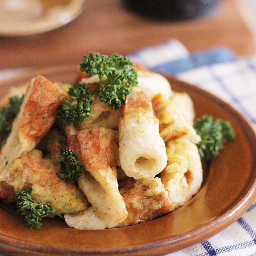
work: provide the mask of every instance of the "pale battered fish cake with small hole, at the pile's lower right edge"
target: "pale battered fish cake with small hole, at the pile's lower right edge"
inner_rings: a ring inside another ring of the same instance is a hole
[[[202,184],[202,164],[198,148],[188,138],[180,137],[166,145],[168,165],[160,178],[173,204],[172,210],[184,205]]]

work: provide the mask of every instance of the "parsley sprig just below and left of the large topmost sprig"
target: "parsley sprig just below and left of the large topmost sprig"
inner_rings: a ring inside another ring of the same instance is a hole
[[[70,126],[72,122],[80,123],[91,114],[92,92],[86,84],[72,86],[68,90],[70,96],[58,110],[58,120]]]

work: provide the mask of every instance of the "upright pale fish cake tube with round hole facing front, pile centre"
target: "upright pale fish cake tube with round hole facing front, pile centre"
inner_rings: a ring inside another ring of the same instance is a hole
[[[126,98],[119,120],[119,157],[126,175],[136,180],[154,177],[167,164],[158,119],[144,92]]]

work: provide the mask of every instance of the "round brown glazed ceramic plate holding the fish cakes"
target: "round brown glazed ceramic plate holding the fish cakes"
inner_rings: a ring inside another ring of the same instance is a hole
[[[62,65],[28,72],[0,83],[1,96],[37,74],[52,81],[76,78],[76,65]],[[29,230],[11,206],[0,204],[0,251],[12,255],[162,255],[213,236],[237,220],[250,206],[256,188],[255,134],[233,108],[190,84],[167,77],[173,90],[187,92],[196,115],[228,120],[236,132],[221,155],[206,171],[201,190],[186,205],[150,222],[109,230],[69,228],[56,218],[44,219],[39,230]]]

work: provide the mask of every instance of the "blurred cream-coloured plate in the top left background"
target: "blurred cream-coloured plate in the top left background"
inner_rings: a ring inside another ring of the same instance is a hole
[[[27,36],[74,20],[84,0],[0,0],[0,36]]]

